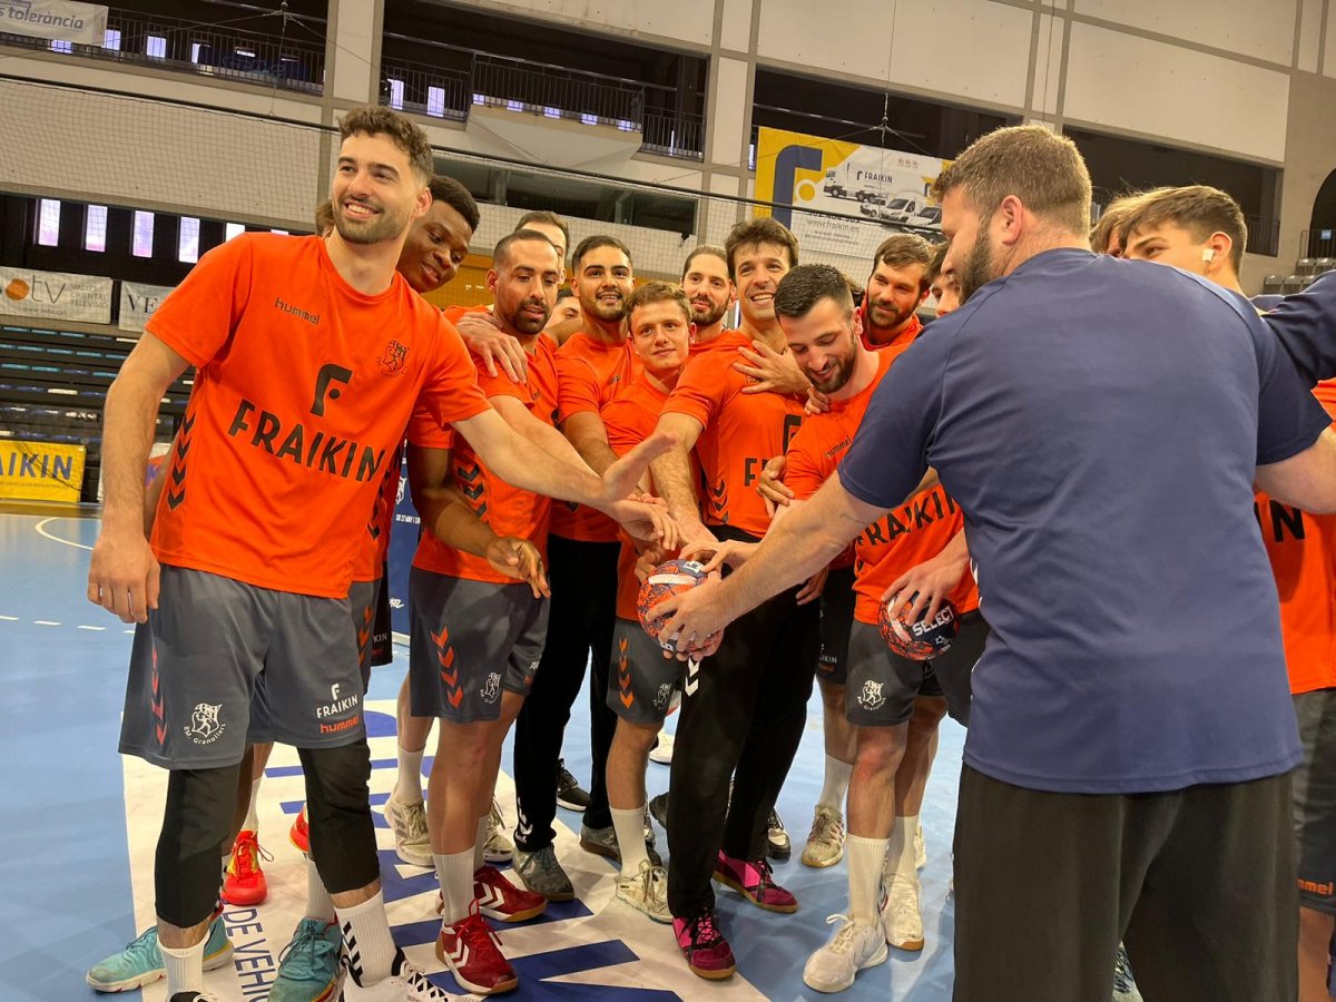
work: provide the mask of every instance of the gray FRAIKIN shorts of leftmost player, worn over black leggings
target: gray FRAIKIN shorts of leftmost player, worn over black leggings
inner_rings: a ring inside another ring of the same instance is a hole
[[[163,565],[135,629],[120,751],[164,768],[218,768],[247,743],[326,748],[363,739],[347,599],[275,592]]]

